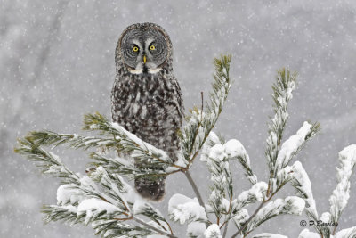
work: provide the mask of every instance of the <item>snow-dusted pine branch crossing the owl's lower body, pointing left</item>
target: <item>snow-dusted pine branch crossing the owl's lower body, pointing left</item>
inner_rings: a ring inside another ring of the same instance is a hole
[[[34,131],[28,133],[25,140],[38,146],[51,145],[56,147],[61,144],[68,144],[69,147],[74,149],[104,148],[105,150],[111,149],[118,152],[127,152],[131,153],[131,156],[136,158],[136,160],[150,161],[150,164],[157,165],[157,169],[153,167],[135,168],[134,164],[127,160],[120,158],[111,159],[98,152],[91,154],[91,157],[95,160],[92,165],[103,166],[111,172],[120,173],[125,176],[152,176],[157,174],[167,176],[178,172],[182,168],[176,164],[184,165],[182,160],[174,164],[171,158],[168,158],[166,152],[143,142],[123,127],[109,122],[108,119],[99,113],[85,115],[85,129],[99,130],[101,135],[106,136],[80,136],[76,134],[58,134],[52,131]],[[182,158],[182,156],[178,156],[178,158]],[[166,172],[164,169],[166,169]]]

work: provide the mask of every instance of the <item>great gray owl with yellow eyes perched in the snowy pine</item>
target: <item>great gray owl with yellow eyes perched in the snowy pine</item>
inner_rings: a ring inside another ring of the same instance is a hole
[[[114,122],[176,160],[183,105],[172,54],[171,40],[158,25],[138,23],[126,28],[117,42],[111,112]],[[135,160],[135,166],[154,168],[149,161]],[[136,177],[134,185],[142,197],[158,201],[165,194],[165,179]]]

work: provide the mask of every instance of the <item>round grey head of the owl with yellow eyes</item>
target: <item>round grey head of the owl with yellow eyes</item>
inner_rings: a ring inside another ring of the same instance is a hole
[[[118,39],[116,62],[117,67],[125,67],[133,74],[156,74],[171,67],[171,40],[166,31],[154,23],[131,25]]]

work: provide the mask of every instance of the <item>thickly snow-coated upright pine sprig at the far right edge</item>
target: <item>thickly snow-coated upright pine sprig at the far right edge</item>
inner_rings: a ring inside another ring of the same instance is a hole
[[[337,182],[335,190],[330,196],[331,222],[337,223],[350,198],[350,177],[356,163],[356,144],[352,144],[339,152],[340,168],[337,168]]]

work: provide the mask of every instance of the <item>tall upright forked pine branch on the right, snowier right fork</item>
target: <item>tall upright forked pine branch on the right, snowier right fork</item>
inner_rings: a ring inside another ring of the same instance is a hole
[[[281,69],[278,71],[276,83],[272,86],[273,101],[275,116],[271,119],[269,124],[267,138],[267,147],[265,154],[270,168],[269,185],[267,189],[267,196],[274,193],[276,187],[288,181],[279,181],[279,171],[286,168],[288,163],[293,160],[295,155],[300,152],[307,141],[320,131],[320,124],[310,124],[304,122],[296,135],[292,135],[287,141],[281,144],[284,129],[289,118],[287,113],[287,105],[293,97],[293,90],[295,89],[296,73],[290,73],[289,70]]]

